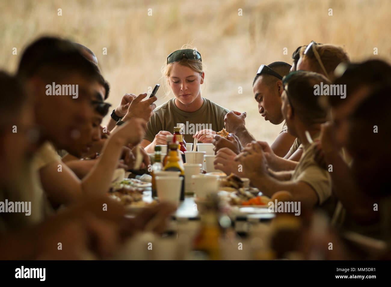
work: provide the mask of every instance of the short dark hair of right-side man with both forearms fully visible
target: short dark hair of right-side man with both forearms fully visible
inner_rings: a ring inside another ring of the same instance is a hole
[[[294,74],[293,74],[294,73]],[[287,96],[294,113],[306,124],[324,123],[328,119],[328,111],[322,105],[322,97],[315,95],[315,85],[331,84],[323,75],[310,71],[292,72],[287,80]]]

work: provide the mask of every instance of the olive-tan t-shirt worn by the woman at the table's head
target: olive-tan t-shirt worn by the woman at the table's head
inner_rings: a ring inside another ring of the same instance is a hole
[[[152,142],[155,135],[161,130],[174,132],[177,123],[185,124],[183,134],[187,143],[193,143],[193,135],[203,129],[212,129],[216,132],[224,128],[224,117],[228,109],[225,109],[212,101],[203,98],[204,103],[195,112],[184,112],[174,103],[172,98],[154,110],[154,114],[147,123],[147,131],[144,139]]]

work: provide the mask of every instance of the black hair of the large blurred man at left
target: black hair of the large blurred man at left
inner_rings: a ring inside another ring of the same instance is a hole
[[[39,75],[47,80],[59,80],[79,73],[88,80],[99,81],[100,73],[74,43],[57,37],[41,37],[23,52],[18,66],[22,79]]]

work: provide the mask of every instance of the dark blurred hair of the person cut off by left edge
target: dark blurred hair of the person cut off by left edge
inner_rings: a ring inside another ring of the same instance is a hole
[[[0,87],[0,119],[3,124],[7,119],[17,117],[27,94],[17,77],[3,71],[0,71]]]

